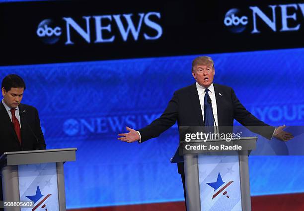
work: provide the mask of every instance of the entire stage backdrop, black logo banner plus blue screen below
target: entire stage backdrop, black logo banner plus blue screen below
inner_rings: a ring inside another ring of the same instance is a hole
[[[24,78],[23,103],[38,108],[47,149],[78,149],[65,164],[69,209],[184,200],[170,164],[176,125],[143,144],[117,138],[195,82],[198,55],[212,56],[215,83],[261,120],[304,124],[301,0],[16,1],[0,0],[0,78]],[[280,143],[303,154],[302,131],[286,144],[259,137],[257,152]],[[304,192],[303,163],[250,157],[252,196]]]

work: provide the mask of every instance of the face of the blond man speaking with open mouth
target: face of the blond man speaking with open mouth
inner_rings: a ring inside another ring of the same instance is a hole
[[[208,88],[213,82],[214,78],[214,68],[212,64],[202,65],[198,64],[194,66],[194,71],[192,71],[192,75],[194,79],[199,83],[199,85]]]

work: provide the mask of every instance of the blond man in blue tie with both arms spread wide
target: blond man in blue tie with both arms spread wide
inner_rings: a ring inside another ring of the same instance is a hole
[[[148,139],[158,137],[176,121],[178,126],[212,125],[213,127],[216,124],[221,131],[221,126],[232,126],[233,119],[268,139],[273,136],[282,141],[293,138],[292,134],[283,130],[285,125],[275,128],[253,116],[239,102],[232,88],[213,84],[215,69],[211,57],[199,56],[195,58],[192,62],[192,75],[196,83],[177,90],[158,119],[138,131],[127,127],[129,133],[119,134],[122,137],[118,139],[128,143],[135,141],[143,143]],[[211,104],[212,109],[209,104]],[[262,126],[260,127],[262,130],[250,126]],[[182,176],[184,185],[184,166],[182,163],[178,163],[178,172]]]

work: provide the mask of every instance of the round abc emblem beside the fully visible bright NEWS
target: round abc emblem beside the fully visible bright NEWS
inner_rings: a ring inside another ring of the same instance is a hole
[[[62,30],[52,19],[45,19],[39,23],[36,34],[44,43],[54,44],[58,42]]]

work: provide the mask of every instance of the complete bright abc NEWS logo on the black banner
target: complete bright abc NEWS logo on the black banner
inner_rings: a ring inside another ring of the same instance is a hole
[[[123,41],[127,41],[130,37],[137,41],[140,36],[145,40],[157,40],[162,35],[162,27],[155,22],[157,19],[160,19],[159,12],[138,13],[137,16],[133,14],[83,16],[77,21],[72,17],[63,17],[65,31],[63,31],[64,27],[56,24],[52,19],[45,19],[39,23],[36,34],[46,44],[57,43],[60,37],[66,34],[66,45],[73,45],[76,37],[87,43],[91,43],[92,39],[95,39],[94,43],[111,43],[118,36],[121,36]],[[114,27],[116,30],[112,30]]]

